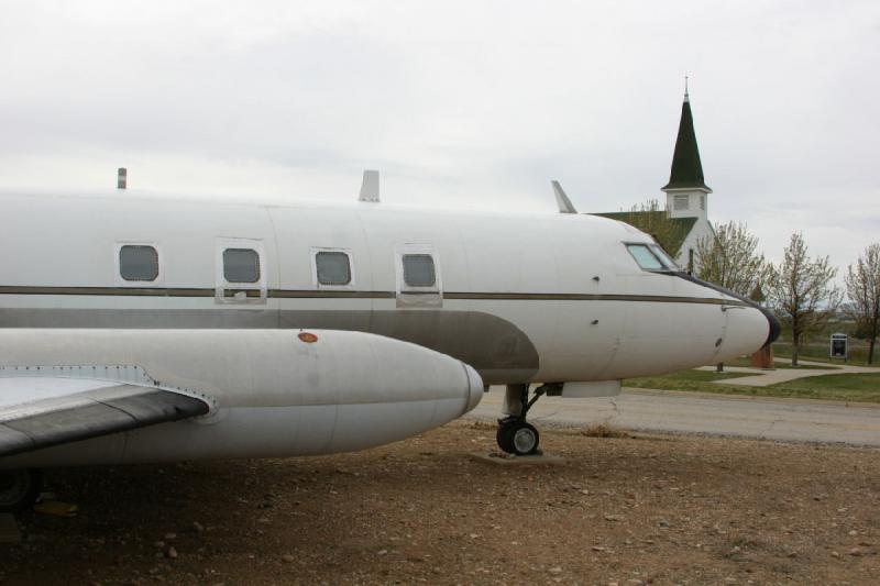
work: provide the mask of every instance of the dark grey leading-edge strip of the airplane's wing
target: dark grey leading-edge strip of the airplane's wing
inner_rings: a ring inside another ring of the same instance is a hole
[[[29,380],[40,382],[20,383]],[[204,400],[156,387],[95,384],[90,390],[0,408],[0,456],[177,421],[210,409]]]

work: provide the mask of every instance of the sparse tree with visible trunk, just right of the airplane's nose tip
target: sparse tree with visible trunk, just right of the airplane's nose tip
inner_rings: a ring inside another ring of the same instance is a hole
[[[840,305],[840,290],[832,283],[836,275],[827,256],[809,256],[803,234],[791,235],[782,263],[773,268],[770,298],[791,325],[792,366],[798,366],[805,334],[821,328]]]

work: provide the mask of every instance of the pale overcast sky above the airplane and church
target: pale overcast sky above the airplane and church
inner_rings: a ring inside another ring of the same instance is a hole
[[[0,0],[0,189],[580,211],[662,197],[683,77],[710,220],[880,241],[880,2]]]

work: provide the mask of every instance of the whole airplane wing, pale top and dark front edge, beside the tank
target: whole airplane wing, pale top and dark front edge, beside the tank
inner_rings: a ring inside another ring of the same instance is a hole
[[[209,410],[205,400],[147,382],[0,376],[0,457]]]

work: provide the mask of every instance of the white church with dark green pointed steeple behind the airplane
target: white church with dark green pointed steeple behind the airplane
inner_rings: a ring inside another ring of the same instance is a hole
[[[667,195],[666,211],[609,212],[597,213],[605,218],[629,221],[639,224],[638,217],[650,213],[662,213],[673,222],[675,230],[673,242],[667,242],[667,252],[682,268],[694,269],[696,243],[706,236],[714,236],[715,230],[708,221],[707,196],[712,189],[703,177],[703,165],[700,163],[700,150],[696,146],[694,119],[691,113],[691,100],[684,92],[681,107],[679,136],[675,140],[675,152],[672,155],[672,169],[669,183],[660,188]],[[646,222],[647,223],[647,222]],[[639,228],[637,225],[637,228]]]

